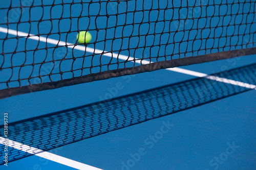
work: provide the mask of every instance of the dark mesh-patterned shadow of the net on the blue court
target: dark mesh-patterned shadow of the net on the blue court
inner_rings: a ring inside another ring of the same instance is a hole
[[[211,80],[216,77],[221,81]],[[221,79],[222,80],[222,79]],[[236,82],[234,82],[236,81]],[[239,84],[240,82],[240,84]],[[244,83],[241,83],[244,82]],[[234,85],[239,84],[239,85]],[[44,151],[256,89],[256,64],[12,123],[9,139]],[[244,86],[244,87],[243,87]],[[1,136],[4,130],[0,129]],[[2,145],[2,147],[4,147]],[[8,161],[30,154],[11,148]],[[4,148],[2,149],[4,150]],[[31,151],[31,148],[27,148]],[[32,150],[33,151],[33,150]],[[3,163],[4,158],[0,158]]]

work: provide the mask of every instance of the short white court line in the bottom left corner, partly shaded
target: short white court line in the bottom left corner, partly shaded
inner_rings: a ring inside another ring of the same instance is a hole
[[[0,137],[0,143],[1,144],[5,145],[5,141],[6,141],[5,138]],[[22,144],[22,143],[19,143],[19,142],[10,140],[10,139],[8,139],[8,146],[12,147],[12,148],[15,148],[17,150],[20,150],[20,151],[30,153],[32,155],[39,156],[41,158],[49,159],[51,161],[76,168],[76,169],[101,170],[97,167],[93,167],[93,166],[83,164],[81,162],[77,162],[77,161],[62,157],[62,156],[58,156],[58,155],[55,155],[55,154],[52,154],[52,153],[49,153],[49,152],[45,152],[45,151],[30,147],[26,144]]]

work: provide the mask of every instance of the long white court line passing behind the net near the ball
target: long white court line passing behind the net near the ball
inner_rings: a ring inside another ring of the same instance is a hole
[[[72,43],[68,43],[68,42],[64,42],[64,41],[58,41],[58,40],[54,40],[54,39],[51,39],[51,38],[45,38],[45,37],[41,37],[41,36],[38,37],[37,35],[28,34],[28,33],[15,31],[15,30],[11,30],[11,29],[6,29],[6,28],[3,28],[3,27],[0,27],[0,32],[12,34],[12,35],[20,36],[20,37],[24,37],[24,38],[30,38],[30,39],[34,39],[34,40],[37,40],[37,41],[43,41],[43,42],[47,42],[47,43],[51,43],[51,44],[55,44],[55,45],[60,45],[60,46],[68,45],[69,48],[74,48],[75,50],[86,51],[86,52],[90,52],[90,53],[93,53],[93,54],[102,54],[102,56],[113,57],[113,58],[117,58],[117,59],[121,59],[121,60],[129,60],[129,61],[132,61],[132,62],[136,62],[138,64],[153,63],[153,62],[150,62],[150,61],[147,61],[147,60],[141,60],[141,59],[138,59],[138,58],[124,56],[124,55],[121,55],[121,54],[116,54],[116,53],[106,52],[106,51],[102,51],[102,50],[97,50],[97,49],[87,47],[87,46],[74,45]],[[134,59],[135,59],[135,61],[134,61]],[[241,87],[255,89],[255,85],[251,85],[251,84],[247,84],[247,83],[243,83],[243,82],[238,82],[238,81],[234,81],[234,80],[229,80],[229,79],[224,79],[224,78],[219,78],[219,77],[215,77],[215,76],[210,76],[210,75],[207,75],[207,74],[203,74],[201,72],[191,71],[191,70],[187,70],[187,69],[183,69],[183,68],[178,68],[178,67],[166,68],[166,70],[180,72],[182,74],[186,74],[186,75],[190,75],[190,76],[202,77],[202,78],[215,80],[215,81],[219,81],[219,82],[223,82],[223,83],[228,83],[228,84],[233,84],[233,85],[237,85],[237,86],[241,86]]]

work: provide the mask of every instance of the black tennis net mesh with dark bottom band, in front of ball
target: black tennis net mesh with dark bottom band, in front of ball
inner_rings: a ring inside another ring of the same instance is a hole
[[[0,99],[256,53],[255,1],[0,4]]]

